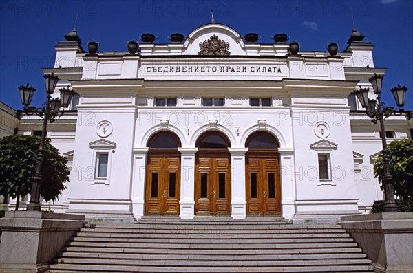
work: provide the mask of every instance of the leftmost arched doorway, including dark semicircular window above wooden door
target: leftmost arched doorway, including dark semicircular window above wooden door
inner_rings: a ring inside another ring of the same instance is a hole
[[[145,215],[179,215],[180,146],[178,136],[167,131],[149,140]]]

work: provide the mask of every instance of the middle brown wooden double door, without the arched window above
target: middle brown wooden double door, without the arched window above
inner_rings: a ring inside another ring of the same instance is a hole
[[[231,214],[231,164],[229,157],[196,158],[195,213]]]

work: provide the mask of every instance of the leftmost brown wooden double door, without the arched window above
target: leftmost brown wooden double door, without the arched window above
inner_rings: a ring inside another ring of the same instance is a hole
[[[146,215],[179,215],[180,157],[149,156]]]

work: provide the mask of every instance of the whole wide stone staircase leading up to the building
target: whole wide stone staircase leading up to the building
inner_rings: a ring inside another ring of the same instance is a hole
[[[373,272],[339,225],[144,217],[82,228],[50,272]]]

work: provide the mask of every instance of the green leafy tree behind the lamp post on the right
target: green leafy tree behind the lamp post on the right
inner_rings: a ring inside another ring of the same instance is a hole
[[[390,173],[394,179],[394,194],[401,199],[410,200],[413,208],[413,140],[394,140],[388,144],[390,153]],[[383,181],[383,153],[374,162],[374,177]],[[381,186],[383,189],[383,185]]]

